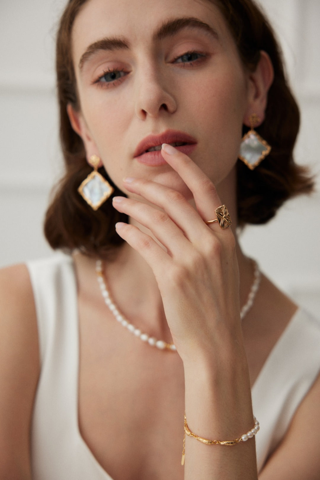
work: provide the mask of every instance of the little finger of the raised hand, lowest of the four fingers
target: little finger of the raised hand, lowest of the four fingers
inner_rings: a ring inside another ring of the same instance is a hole
[[[140,253],[142,258],[152,268],[154,276],[161,279],[163,272],[168,271],[172,265],[171,257],[149,235],[139,228],[127,223],[116,223],[118,235]]]

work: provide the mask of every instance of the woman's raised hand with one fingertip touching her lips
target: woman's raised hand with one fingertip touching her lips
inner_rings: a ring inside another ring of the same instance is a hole
[[[170,155],[162,149],[162,155],[189,187],[197,210],[180,192],[142,179],[125,181],[125,188],[157,208],[125,197],[115,197],[113,205],[166,247],[133,225],[116,226],[152,268],[173,341],[184,359],[221,349],[222,337],[234,338],[239,332],[235,238],[231,228],[205,224],[221,205],[212,181],[182,152],[174,149]]]

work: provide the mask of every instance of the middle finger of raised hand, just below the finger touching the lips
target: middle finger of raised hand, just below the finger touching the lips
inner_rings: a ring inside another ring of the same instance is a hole
[[[124,183],[130,192],[162,208],[190,242],[195,243],[208,233],[199,213],[180,192],[151,180],[125,179]]]

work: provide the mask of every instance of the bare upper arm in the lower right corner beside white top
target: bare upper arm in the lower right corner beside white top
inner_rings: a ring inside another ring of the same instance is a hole
[[[282,443],[259,480],[320,478],[320,374],[301,402]]]

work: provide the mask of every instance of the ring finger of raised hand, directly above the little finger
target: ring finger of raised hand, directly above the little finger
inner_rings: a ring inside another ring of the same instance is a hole
[[[119,212],[149,228],[155,238],[166,247],[170,256],[181,258],[181,255],[185,255],[190,249],[190,242],[166,212],[125,197],[114,197],[112,204]]]

